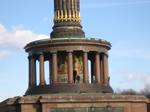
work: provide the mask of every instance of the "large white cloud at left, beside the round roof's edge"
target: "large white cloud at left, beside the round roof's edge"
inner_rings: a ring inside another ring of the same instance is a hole
[[[44,34],[36,34],[31,30],[23,28],[12,29],[7,31],[5,27],[0,24],[0,48],[23,48],[27,43],[33,40],[49,38]]]

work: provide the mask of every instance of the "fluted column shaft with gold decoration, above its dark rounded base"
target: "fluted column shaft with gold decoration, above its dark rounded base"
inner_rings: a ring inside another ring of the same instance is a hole
[[[79,0],[54,0],[54,21],[77,21],[80,22]]]

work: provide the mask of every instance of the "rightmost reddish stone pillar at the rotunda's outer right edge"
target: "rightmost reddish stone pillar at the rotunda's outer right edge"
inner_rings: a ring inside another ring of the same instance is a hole
[[[103,54],[103,71],[104,71],[104,84],[108,83],[108,55]]]

